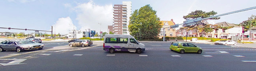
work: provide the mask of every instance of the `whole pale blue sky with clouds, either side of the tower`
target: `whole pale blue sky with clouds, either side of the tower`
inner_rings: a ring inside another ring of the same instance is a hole
[[[0,27],[50,30],[55,26],[56,34],[65,34],[74,27],[99,32],[101,27],[103,32],[107,32],[107,25],[113,24],[112,6],[122,4],[122,1],[131,1],[132,11],[150,4],[161,20],[174,19],[175,23],[182,23],[185,21],[182,17],[195,10],[213,10],[219,15],[256,6],[256,0],[0,0]],[[251,15],[256,15],[256,9],[208,22],[239,24]],[[34,31],[0,29],[0,32]]]

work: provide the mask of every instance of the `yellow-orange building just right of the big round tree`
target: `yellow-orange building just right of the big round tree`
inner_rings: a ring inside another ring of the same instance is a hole
[[[159,33],[159,38],[163,37],[163,33],[165,34],[165,36],[168,36],[168,37],[176,37],[176,30],[175,28],[166,28],[166,27],[170,27],[172,25],[174,25],[175,23],[173,22],[173,19],[171,19],[171,21],[160,21],[162,22],[162,28],[160,30],[160,33]],[[163,31],[163,28],[164,31]]]

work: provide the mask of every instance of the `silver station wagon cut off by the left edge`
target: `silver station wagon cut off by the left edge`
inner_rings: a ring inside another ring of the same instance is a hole
[[[32,49],[43,49],[44,45],[40,43],[36,43],[34,41],[28,40],[19,40],[12,41],[6,40],[0,43],[0,52],[6,50],[16,50],[17,52],[22,52],[23,50],[32,50]]]

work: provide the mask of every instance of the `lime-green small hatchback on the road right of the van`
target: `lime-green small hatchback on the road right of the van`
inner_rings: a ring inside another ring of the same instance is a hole
[[[202,53],[201,47],[197,47],[192,43],[172,42],[170,49],[177,51],[181,54],[184,54],[185,52],[196,52],[198,54]]]

